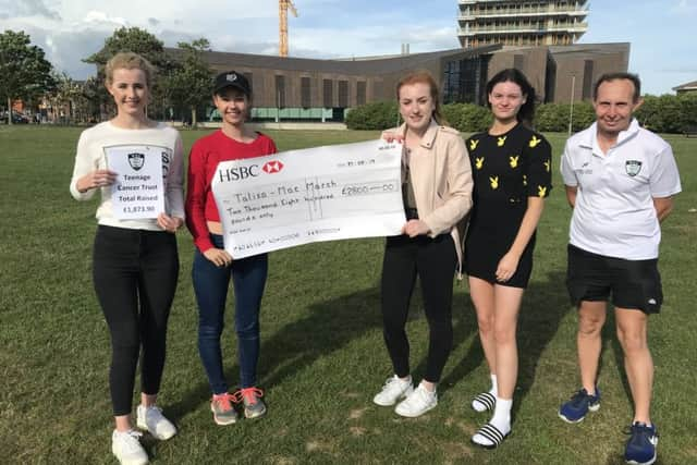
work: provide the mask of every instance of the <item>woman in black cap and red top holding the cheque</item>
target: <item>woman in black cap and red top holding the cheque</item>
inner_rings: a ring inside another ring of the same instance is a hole
[[[247,418],[266,413],[262,391],[256,387],[259,358],[259,307],[268,271],[267,255],[234,259],[223,248],[222,225],[211,191],[220,161],[276,154],[268,136],[245,126],[249,114],[249,83],[234,71],[216,77],[213,103],[222,129],[194,143],[188,162],[186,225],[196,245],[193,282],[198,303],[198,351],[212,390],[210,408],[218,425],[237,420],[233,402],[244,404]],[[220,336],[224,326],[230,278],[235,295],[235,330],[240,354],[240,390],[228,391],[222,369]]]

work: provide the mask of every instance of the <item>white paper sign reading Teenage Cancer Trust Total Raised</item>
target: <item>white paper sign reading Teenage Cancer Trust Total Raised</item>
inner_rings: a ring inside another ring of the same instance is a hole
[[[107,167],[117,181],[111,186],[111,208],[120,220],[157,218],[164,211],[162,160],[167,147],[120,145],[106,147]]]

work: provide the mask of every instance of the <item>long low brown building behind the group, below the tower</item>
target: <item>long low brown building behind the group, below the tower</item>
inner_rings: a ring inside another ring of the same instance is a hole
[[[572,93],[575,101],[588,100],[600,74],[627,70],[629,45],[492,45],[355,60],[216,51],[205,52],[204,58],[216,73],[233,69],[247,76],[256,119],[343,121],[352,107],[393,100],[400,77],[421,69],[436,77],[444,103],[485,105],[487,81],[504,68],[523,71],[541,102],[568,102]]]

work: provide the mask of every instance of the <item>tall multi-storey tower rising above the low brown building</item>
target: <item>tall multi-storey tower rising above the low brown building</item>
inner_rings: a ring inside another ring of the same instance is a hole
[[[587,1],[458,0],[460,42],[516,47],[575,44],[588,28]]]

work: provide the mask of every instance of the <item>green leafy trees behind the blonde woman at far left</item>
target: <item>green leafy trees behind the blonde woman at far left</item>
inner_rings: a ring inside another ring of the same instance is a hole
[[[156,68],[148,113],[159,120],[178,119],[196,124],[197,114],[210,101],[212,70],[204,60],[210,51],[207,39],[179,42],[175,56],[161,40],[138,27],[122,27],[105,40],[97,53],[83,59],[97,66],[97,74],[76,82],[58,73],[44,50],[30,45],[24,32],[0,34],[0,108],[10,112],[22,100],[29,108],[50,107],[56,121],[63,123],[102,121],[115,111],[103,85],[105,65],[120,51],[142,54]],[[8,119],[12,122],[12,118]]]

